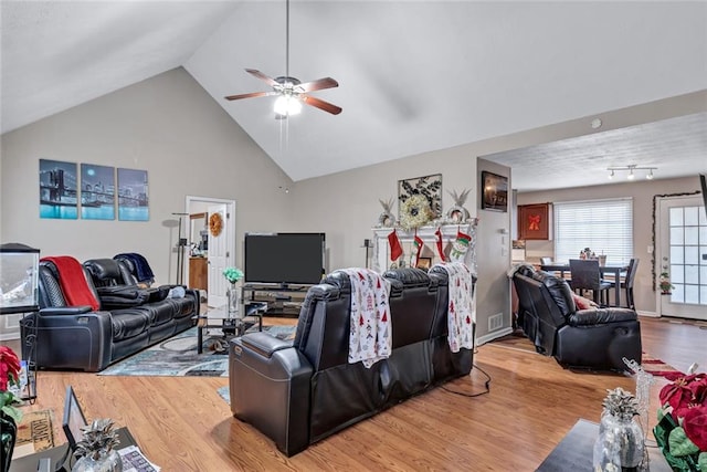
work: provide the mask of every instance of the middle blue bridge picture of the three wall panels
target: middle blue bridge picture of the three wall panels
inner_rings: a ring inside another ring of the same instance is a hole
[[[81,218],[115,220],[115,167],[81,165]]]

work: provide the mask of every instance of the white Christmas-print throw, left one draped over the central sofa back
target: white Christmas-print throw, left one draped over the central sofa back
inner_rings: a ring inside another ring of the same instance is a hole
[[[369,269],[342,269],[351,282],[349,364],[359,360],[370,368],[390,357],[390,282]]]

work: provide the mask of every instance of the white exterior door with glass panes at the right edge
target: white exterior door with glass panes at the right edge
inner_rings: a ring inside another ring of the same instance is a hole
[[[662,272],[673,289],[661,295],[662,316],[707,319],[707,216],[701,196],[664,197],[656,218],[656,287]]]

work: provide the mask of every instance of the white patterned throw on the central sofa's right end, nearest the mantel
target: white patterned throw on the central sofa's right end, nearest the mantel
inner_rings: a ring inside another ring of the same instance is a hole
[[[472,272],[462,262],[436,264],[449,275],[447,340],[452,353],[474,347],[474,295]]]

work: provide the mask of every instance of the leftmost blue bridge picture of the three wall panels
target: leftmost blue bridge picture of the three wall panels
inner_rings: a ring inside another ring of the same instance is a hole
[[[78,218],[76,162],[40,159],[40,218]]]

